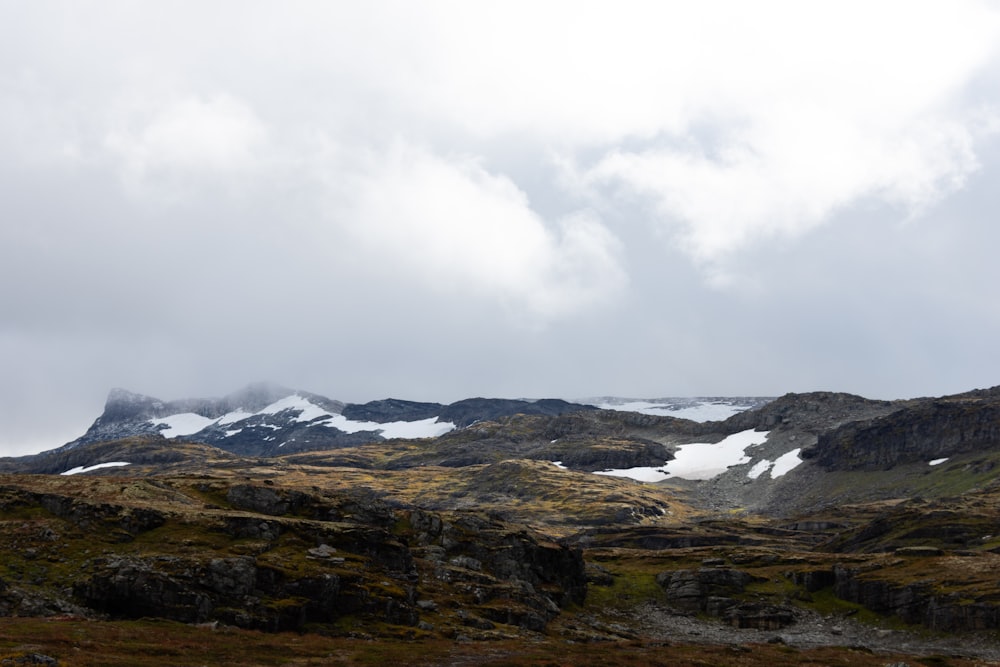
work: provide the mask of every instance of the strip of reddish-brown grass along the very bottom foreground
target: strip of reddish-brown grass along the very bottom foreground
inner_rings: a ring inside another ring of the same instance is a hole
[[[850,648],[800,650],[781,644],[708,646],[645,641],[371,641],[309,634],[264,634],[163,621],[0,619],[0,657],[41,653],[63,667],[254,667],[300,665],[550,665],[552,667],[974,667],[998,663],[940,656],[876,654]]]

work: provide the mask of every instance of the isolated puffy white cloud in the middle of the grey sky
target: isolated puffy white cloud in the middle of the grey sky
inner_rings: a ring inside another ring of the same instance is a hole
[[[337,191],[331,216],[401,279],[499,299],[532,318],[602,302],[625,283],[618,240],[595,214],[555,224],[509,178],[471,158],[402,142],[371,153]]]

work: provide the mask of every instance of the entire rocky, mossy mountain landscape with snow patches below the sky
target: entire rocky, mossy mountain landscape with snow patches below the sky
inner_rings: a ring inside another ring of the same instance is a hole
[[[219,446],[255,428],[276,439]],[[333,440],[273,444],[308,429]],[[327,651],[240,664],[364,662],[352,641],[400,664],[1000,664],[998,463],[998,389],[714,422],[116,391],[84,437],[0,461],[0,660],[177,664],[87,657],[58,619]]]

